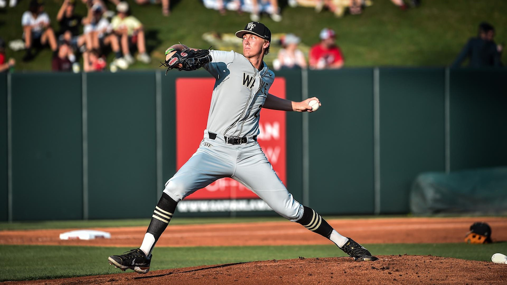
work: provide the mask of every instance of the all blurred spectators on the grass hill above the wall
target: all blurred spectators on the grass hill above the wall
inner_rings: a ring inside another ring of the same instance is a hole
[[[17,0],[0,0],[0,8],[17,5]],[[129,4],[120,0],[110,1],[116,9],[111,11],[104,0],[64,0],[56,17],[58,29],[51,27],[52,18],[44,10],[44,0],[30,0],[28,10],[21,17],[23,27],[19,49],[25,54],[23,61],[31,61],[38,51],[49,48],[52,51],[51,67],[54,71],[85,72],[102,71],[109,68],[115,72],[127,69],[138,61],[150,63],[146,50],[146,35],[142,23],[130,13]],[[169,0],[134,0],[136,4],[161,4],[162,14],[169,16]],[[406,10],[419,6],[419,0],[390,0],[395,6]],[[77,3],[79,2],[79,3]],[[278,0],[202,0],[203,5],[225,14],[226,10],[250,13],[252,21],[260,21],[266,14],[274,21],[282,21]],[[407,4],[409,6],[407,6]],[[336,16],[345,13],[360,14],[372,0],[289,0],[289,6],[313,7],[316,12],[327,9]],[[75,13],[76,5],[85,5],[85,16]],[[452,63],[461,66],[468,59],[470,67],[502,66],[500,61],[502,45],[494,42],[495,30],[489,23],[481,23],[477,37],[470,38]],[[336,33],[330,28],[319,32],[319,42],[314,44],[308,54],[298,45],[301,39],[292,33],[280,39],[281,49],[273,68],[295,69],[337,69],[345,64],[345,57],[336,43]],[[13,70],[14,59],[5,56],[6,43],[0,37],[0,72]],[[306,50],[306,49],[305,49]],[[107,62],[107,56],[110,62]],[[135,55],[135,57],[134,57]],[[308,59],[308,62],[307,62]],[[82,62],[82,64],[80,64]]]

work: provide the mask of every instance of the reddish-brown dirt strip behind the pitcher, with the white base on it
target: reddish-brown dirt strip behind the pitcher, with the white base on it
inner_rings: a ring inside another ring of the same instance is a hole
[[[494,241],[507,240],[507,218],[387,218],[328,220],[342,235],[361,243],[462,242],[470,225],[487,222]],[[94,228],[111,239],[60,240],[72,229],[0,231],[0,245],[74,245],[137,248],[146,227]],[[394,234],[395,233],[395,234]],[[158,247],[329,245],[329,240],[288,221],[169,225]]]

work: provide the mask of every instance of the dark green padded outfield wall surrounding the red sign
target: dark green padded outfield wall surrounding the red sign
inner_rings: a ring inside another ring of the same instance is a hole
[[[175,80],[208,76],[0,74],[0,221],[149,217],[176,171]],[[322,102],[286,114],[285,183],[320,214],[408,213],[418,173],[507,165],[505,70],[277,76],[288,99]]]

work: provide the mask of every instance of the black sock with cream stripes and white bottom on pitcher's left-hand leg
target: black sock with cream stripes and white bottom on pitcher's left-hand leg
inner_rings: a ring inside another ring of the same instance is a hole
[[[155,207],[155,211],[153,211],[152,221],[148,226],[148,230],[144,235],[144,239],[141,244],[141,251],[149,256],[155,246],[155,243],[159,239],[160,235],[164,232],[169,224],[169,221],[174,214],[174,210],[176,210],[176,205],[178,202],[173,200],[166,193],[162,193],[162,197],[160,197],[157,206]]]

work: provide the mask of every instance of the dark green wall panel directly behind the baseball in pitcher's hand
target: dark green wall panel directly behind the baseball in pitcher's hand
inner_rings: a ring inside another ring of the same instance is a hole
[[[320,214],[373,214],[373,72],[308,72],[309,205]],[[360,200],[360,207],[356,201]]]

